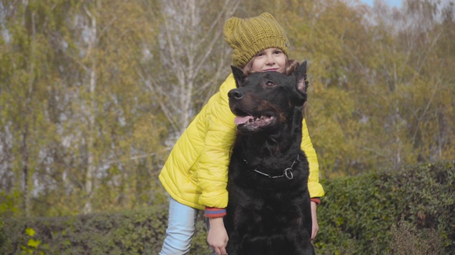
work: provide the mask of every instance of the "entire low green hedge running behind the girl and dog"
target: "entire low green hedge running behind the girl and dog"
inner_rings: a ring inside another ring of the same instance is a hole
[[[451,254],[455,162],[323,181],[317,254]],[[0,254],[158,254],[167,205],[78,217],[0,218]],[[208,254],[201,215],[191,254]]]

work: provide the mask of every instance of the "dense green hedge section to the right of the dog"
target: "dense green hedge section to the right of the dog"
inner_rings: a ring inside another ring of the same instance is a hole
[[[322,254],[343,249],[352,254],[388,254],[417,243],[425,234],[432,237],[430,232],[437,233],[433,237],[446,252],[455,249],[455,162],[334,179],[323,186],[326,196],[318,209],[321,231],[316,237]],[[422,248],[424,242],[419,243]]]

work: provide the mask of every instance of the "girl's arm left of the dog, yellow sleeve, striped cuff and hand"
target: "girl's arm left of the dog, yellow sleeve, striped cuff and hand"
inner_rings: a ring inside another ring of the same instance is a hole
[[[207,242],[217,255],[226,254],[228,233],[223,222],[228,206],[228,167],[232,148],[237,135],[228,102],[228,91],[235,88],[232,74],[217,96],[210,98],[206,107],[208,132],[205,137],[205,149],[200,155],[198,169],[198,187],[202,194],[199,203],[205,205],[205,216],[209,218],[210,229]]]

